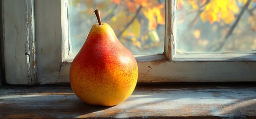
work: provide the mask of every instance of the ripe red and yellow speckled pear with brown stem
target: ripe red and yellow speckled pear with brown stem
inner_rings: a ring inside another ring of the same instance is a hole
[[[69,80],[75,95],[89,105],[114,106],[134,91],[138,65],[120,43],[114,30],[102,23],[95,10],[94,24],[70,66]]]

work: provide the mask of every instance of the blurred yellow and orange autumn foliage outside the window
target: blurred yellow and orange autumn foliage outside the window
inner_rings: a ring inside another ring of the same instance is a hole
[[[96,8],[101,10],[102,21],[110,24],[133,54],[163,53],[165,0],[69,0],[71,53],[79,51],[97,23]],[[254,9],[256,0],[177,0],[178,52],[256,49]],[[237,39],[236,43],[230,37]],[[246,45],[239,46],[241,43]]]

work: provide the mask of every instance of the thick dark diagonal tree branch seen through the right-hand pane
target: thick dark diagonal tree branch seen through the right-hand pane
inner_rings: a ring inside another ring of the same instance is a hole
[[[223,48],[223,46],[225,46],[226,42],[228,41],[228,38],[230,37],[230,35],[232,35],[232,33],[233,33],[234,29],[236,28],[241,16],[244,14],[245,10],[248,8],[250,2],[251,2],[251,0],[248,0],[246,2],[246,4],[243,6],[241,12],[237,16],[236,21],[233,23],[233,25],[229,29],[228,33],[226,34],[226,36],[224,37],[222,42],[220,42],[219,47],[217,47],[215,50],[213,50],[214,52],[221,50]]]

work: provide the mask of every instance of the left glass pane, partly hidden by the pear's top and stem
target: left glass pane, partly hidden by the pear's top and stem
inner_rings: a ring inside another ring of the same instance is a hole
[[[164,51],[164,0],[68,0],[70,53],[82,47],[100,9],[120,42],[133,54]]]

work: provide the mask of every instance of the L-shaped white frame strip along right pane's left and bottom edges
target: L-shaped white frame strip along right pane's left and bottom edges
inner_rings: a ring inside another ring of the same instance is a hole
[[[174,61],[256,61],[255,53],[177,53],[177,23],[176,23],[176,9],[177,9],[177,0],[168,1],[166,10],[171,11],[170,20],[168,27],[171,29],[169,34],[165,39],[171,38],[170,42],[166,43],[165,47],[171,49],[171,52],[168,53],[167,57],[170,60]],[[168,14],[169,15],[169,14]],[[168,18],[167,18],[168,19]],[[170,47],[172,46],[172,47]],[[168,50],[166,49],[166,50]]]

